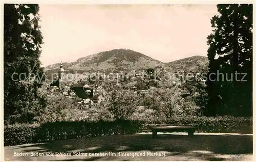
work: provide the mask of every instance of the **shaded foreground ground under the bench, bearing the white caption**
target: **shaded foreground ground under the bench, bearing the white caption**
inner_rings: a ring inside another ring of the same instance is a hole
[[[14,156],[15,152],[43,155]],[[74,156],[73,152],[80,155]],[[157,139],[152,139],[151,133],[92,137],[7,146],[5,160],[252,160],[252,134],[195,133],[188,137],[187,133],[159,133]]]

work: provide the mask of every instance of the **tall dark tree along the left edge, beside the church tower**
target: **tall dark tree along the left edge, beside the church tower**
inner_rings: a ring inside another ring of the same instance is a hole
[[[42,35],[39,6],[4,5],[4,118],[29,122],[34,112],[46,106],[38,88],[45,79],[40,66]],[[36,106],[35,106],[36,104]],[[33,110],[35,109],[35,110]]]

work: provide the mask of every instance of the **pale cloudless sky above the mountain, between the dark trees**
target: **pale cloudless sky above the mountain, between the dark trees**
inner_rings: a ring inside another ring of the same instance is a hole
[[[207,56],[216,5],[39,5],[43,66],[126,48],[170,62]]]

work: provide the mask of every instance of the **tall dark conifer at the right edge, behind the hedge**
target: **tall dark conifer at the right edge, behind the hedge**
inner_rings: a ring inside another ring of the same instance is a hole
[[[217,7],[219,15],[212,17],[207,37],[207,115],[252,115],[252,5]],[[242,78],[247,81],[241,82]]]

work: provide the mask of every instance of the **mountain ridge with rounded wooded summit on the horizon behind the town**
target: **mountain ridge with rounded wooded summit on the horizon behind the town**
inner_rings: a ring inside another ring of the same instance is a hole
[[[155,67],[169,67],[177,69],[190,68],[191,65],[197,66],[207,65],[207,57],[192,56],[172,62],[161,62],[144,55],[143,53],[131,49],[112,49],[109,51],[101,51],[93,55],[82,57],[75,62],[62,63],[63,68],[68,70],[137,70]],[[45,70],[54,70],[59,68],[60,63],[48,65]],[[192,66],[193,67],[193,66]]]

